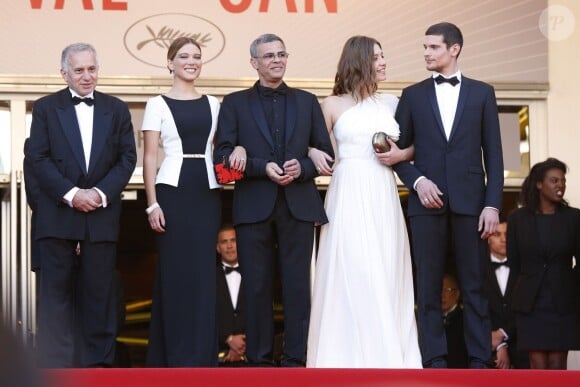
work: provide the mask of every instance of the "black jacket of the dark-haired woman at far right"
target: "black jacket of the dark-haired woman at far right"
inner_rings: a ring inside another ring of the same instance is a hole
[[[549,287],[556,309],[568,313],[580,309],[580,270],[572,268],[572,257],[580,257],[580,210],[560,206],[553,215],[557,227],[549,230],[547,248],[540,244],[536,214],[522,207],[510,214],[507,252],[518,276],[512,307],[528,313],[541,287]]]

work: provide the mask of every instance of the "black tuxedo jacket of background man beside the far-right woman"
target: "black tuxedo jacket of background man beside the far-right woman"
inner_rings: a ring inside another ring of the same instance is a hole
[[[508,261],[508,262],[511,262]],[[505,294],[501,294],[495,268],[491,262],[487,265],[485,289],[489,302],[489,318],[491,320],[491,329],[497,330],[502,328],[509,336],[508,344],[511,346],[516,342],[516,321],[515,314],[511,306],[511,298],[516,280],[515,270],[510,268]]]

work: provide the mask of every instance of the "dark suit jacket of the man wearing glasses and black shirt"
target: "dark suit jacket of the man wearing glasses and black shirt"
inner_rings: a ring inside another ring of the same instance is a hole
[[[297,159],[302,169],[300,179],[283,188],[290,213],[298,220],[326,223],[322,199],[314,183],[318,173],[308,158],[308,148],[318,148],[331,156],[334,153],[320,104],[313,94],[288,88],[284,129],[286,160]],[[236,145],[246,149],[247,160],[245,177],[236,181],[233,223],[257,223],[272,213],[279,186],[266,176],[266,164],[275,161],[274,140],[256,85],[224,97],[214,162],[229,156]]]

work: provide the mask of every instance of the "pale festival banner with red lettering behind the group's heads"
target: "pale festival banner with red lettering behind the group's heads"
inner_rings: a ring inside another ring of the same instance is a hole
[[[203,44],[202,76],[255,78],[249,45],[276,33],[290,52],[287,78],[333,79],[344,41],[383,45],[390,81],[416,81],[425,29],[439,21],[464,33],[463,72],[494,82],[547,82],[547,0],[3,0],[0,74],[57,74],[60,52],[97,48],[102,76],[162,76],[180,35]]]

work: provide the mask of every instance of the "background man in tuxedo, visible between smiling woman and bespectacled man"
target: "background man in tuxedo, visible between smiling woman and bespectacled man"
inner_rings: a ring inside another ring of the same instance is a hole
[[[246,303],[233,226],[220,228],[216,250],[220,256],[216,271],[219,361],[241,365],[246,360]]]

